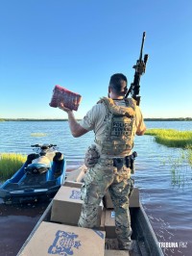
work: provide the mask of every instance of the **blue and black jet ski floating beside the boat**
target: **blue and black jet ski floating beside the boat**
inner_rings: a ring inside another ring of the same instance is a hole
[[[65,179],[66,162],[56,144],[34,144],[36,153],[0,187],[6,204],[51,200]]]

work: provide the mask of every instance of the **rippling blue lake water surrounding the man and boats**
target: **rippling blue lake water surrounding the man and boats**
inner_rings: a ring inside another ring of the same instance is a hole
[[[148,128],[192,130],[191,121],[149,121],[146,125]],[[69,171],[84,163],[84,153],[92,141],[93,133],[73,138],[66,121],[0,122],[0,153],[29,154],[31,144],[56,143],[65,155]],[[191,256],[192,169],[185,162],[176,166],[183,150],[157,144],[154,137],[146,135],[135,138],[134,150],[138,157],[132,177],[158,242],[169,246],[163,248],[164,254]],[[171,171],[173,167],[175,176]]]

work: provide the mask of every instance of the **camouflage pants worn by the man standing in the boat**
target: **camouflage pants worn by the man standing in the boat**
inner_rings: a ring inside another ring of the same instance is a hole
[[[130,172],[130,168],[126,166],[117,171],[112,160],[100,160],[87,171],[82,188],[84,203],[79,226],[96,226],[98,207],[108,189],[114,205],[117,239],[122,249],[127,249],[132,243],[129,197],[133,190],[133,181]]]

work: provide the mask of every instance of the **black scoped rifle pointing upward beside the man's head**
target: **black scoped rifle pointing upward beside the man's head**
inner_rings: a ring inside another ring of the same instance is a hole
[[[148,61],[148,54],[144,55],[144,61],[142,60],[143,55],[143,46],[144,46],[144,40],[145,40],[145,32],[143,32],[143,38],[141,43],[141,49],[140,49],[140,56],[139,59],[136,61],[136,64],[132,66],[132,68],[135,69],[134,72],[134,80],[131,84],[130,89],[127,91],[125,98],[128,97],[128,95],[131,93],[132,98],[136,100],[136,105],[139,106],[140,103],[140,96],[139,96],[139,90],[140,90],[140,77],[145,73],[146,64]]]

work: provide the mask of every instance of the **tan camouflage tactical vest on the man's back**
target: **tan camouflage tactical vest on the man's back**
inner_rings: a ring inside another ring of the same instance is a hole
[[[103,97],[99,103],[103,103],[107,109],[105,130],[102,140],[95,142],[100,146],[101,153],[111,156],[126,156],[133,146],[133,122],[135,117],[135,101],[132,98],[125,99],[126,107],[115,105],[111,98]]]

